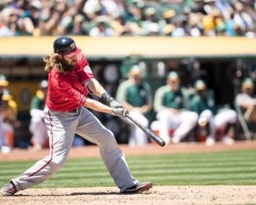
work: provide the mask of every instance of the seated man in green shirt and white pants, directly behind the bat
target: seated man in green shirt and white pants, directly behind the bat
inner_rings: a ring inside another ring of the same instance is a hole
[[[149,120],[144,116],[152,108],[152,95],[150,85],[142,81],[142,73],[138,66],[132,67],[129,78],[119,85],[116,99],[122,103],[130,115],[139,121],[140,124],[148,127]],[[148,143],[146,134],[130,120],[131,126],[128,140],[129,146],[144,146]]]

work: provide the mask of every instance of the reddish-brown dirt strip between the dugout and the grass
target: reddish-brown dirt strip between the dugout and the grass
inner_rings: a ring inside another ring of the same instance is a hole
[[[154,144],[142,147],[129,147],[121,145],[125,156],[132,155],[153,155],[153,154],[168,154],[168,153],[200,153],[200,152],[218,152],[225,150],[238,149],[256,149],[256,141],[241,141],[236,142],[233,146],[228,146],[223,143],[216,143],[215,146],[205,146],[204,143],[180,143],[178,145],[168,145],[160,147]],[[49,149],[42,149],[34,151],[33,149],[13,149],[11,153],[0,153],[1,161],[10,160],[39,160],[49,154]],[[97,146],[83,146],[79,148],[72,148],[70,150],[69,158],[83,158],[83,157],[99,157],[99,148]]]

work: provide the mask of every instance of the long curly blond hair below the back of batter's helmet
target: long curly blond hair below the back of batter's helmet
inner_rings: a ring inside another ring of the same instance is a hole
[[[59,62],[59,54],[52,52],[48,56],[44,57],[45,71],[49,72],[52,68],[58,70],[59,72],[65,74],[67,70],[63,68],[63,65]]]

